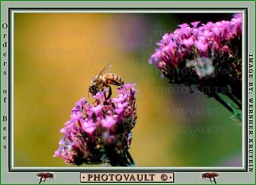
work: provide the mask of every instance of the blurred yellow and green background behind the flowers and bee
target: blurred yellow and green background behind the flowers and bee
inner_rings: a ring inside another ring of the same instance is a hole
[[[242,127],[231,114],[200,92],[168,84],[148,64],[155,43],[177,24],[231,15],[16,13],[14,166],[68,167],[52,157],[59,129],[108,61],[109,72],[137,83],[130,153],[139,167],[241,166]]]

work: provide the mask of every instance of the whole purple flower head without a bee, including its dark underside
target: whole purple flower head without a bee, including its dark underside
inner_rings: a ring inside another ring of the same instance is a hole
[[[241,101],[242,14],[233,17],[215,23],[179,24],[174,32],[163,35],[149,63],[170,83],[196,85],[208,96],[231,93]]]

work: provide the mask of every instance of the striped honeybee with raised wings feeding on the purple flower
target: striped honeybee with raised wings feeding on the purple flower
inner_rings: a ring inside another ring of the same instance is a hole
[[[121,86],[124,85],[124,80],[118,75],[115,75],[114,73],[106,73],[111,67],[111,63],[106,65],[99,73],[99,75],[96,75],[88,88],[88,92],[90,92],[92,95],[96,95],[97,92],[102,92],[105,87],[108,87],[108,96],[107,98],[110,98],[112,95],[112,89],[110,85],[117,85]]]

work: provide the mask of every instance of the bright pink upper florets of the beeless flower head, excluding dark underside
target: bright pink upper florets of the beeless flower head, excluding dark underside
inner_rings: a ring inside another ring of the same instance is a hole
[[[180,67],[186,59],[198,57],[214,58],[215,54],[227,52],[232,55],[228,42],[241,39],[242,16],[236,14],[231,21],[208,22],[199,26],[200,21],[178,25],[173,33],[166,33],[157,43],[159,48],[151,55],[149,63],[160,70],[166,65]]]

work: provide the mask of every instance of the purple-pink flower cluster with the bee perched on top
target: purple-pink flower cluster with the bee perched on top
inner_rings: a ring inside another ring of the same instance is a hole
[[[127,150],[137,119],[134,86],[124,84],[117,90],[118,96],[109,99],[104,90],[94,96],[96,105],[85,98],[78,101],[70,120],[60,129],[64,136],[53,156],[76,165],[130,165]]]

